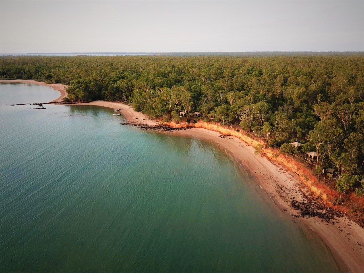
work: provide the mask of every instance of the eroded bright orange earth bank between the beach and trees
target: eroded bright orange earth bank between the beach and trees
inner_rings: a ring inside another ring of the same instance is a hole
[[[205,128],[208,130],[216,131],[221,133],[224,136],[233,136],[245,141],[248,145],[256,147],[257,145],[262,145],[264,147],[261,149],[261,153],[265,155],[272,162],[279,163],[285,166],[288,170],[293,171],[298,175],[302,183],[314,194],[319,196],[324,203],[327,205],[334,207],[336,210],[345,212],[349,214],[353,219],[355,219],[361,226],[364,224],[364,215],[359,215],[359,212],[354,212],[355,207],[363,208],[364,207],[364,198],[357,196],[355,194],[348,195],[348,202],[351,208],[347,206],[341,205],[333,205],[333,202],[338,199],[339,194],[337,191],[330,189],[327,185],[324,185],[320,181],[318,181],[317,177],[312,174],[312,171],[309,170],[304,163],[295,160],[292,157],[287,157],[282,155],[279,150],[273,148],[266,148],[266,144],[261,140],[255,140],[248,137],[246,134],[237,132],[235,130],[225,128],[219,124],[207,123],[199,121],[197,123],[175,123],[175,122],[165,122],[171,127],[177,128]],[[354,206],[354,207],[353,207]],[[359,216],[359,217],[358,217]]]

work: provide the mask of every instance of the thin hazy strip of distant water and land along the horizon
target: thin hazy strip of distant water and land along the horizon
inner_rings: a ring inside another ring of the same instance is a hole
[[[320,56],[320,55],[364,55],[364,51],[246,51],[246,52],[35,52],[35,53],[0,53],[0,56]]]

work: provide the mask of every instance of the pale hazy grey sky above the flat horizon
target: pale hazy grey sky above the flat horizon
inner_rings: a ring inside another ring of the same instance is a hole
[[[0,0],[0,52],[364,51],[364,0]]]

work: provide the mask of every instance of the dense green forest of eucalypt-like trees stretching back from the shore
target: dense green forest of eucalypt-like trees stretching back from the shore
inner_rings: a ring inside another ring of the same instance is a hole
[[[363,56],[3,57],[0,78],[67,84],[69,100],[126,102],[164,120],[199,111],[283,153],[316,151],[340,193],[364,194]]]

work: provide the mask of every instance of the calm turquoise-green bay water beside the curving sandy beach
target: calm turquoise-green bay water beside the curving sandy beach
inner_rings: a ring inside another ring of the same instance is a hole
[[[4,105],[58,95],[0,84],[0,272],[339,272],[209,143],[108,108]]]

